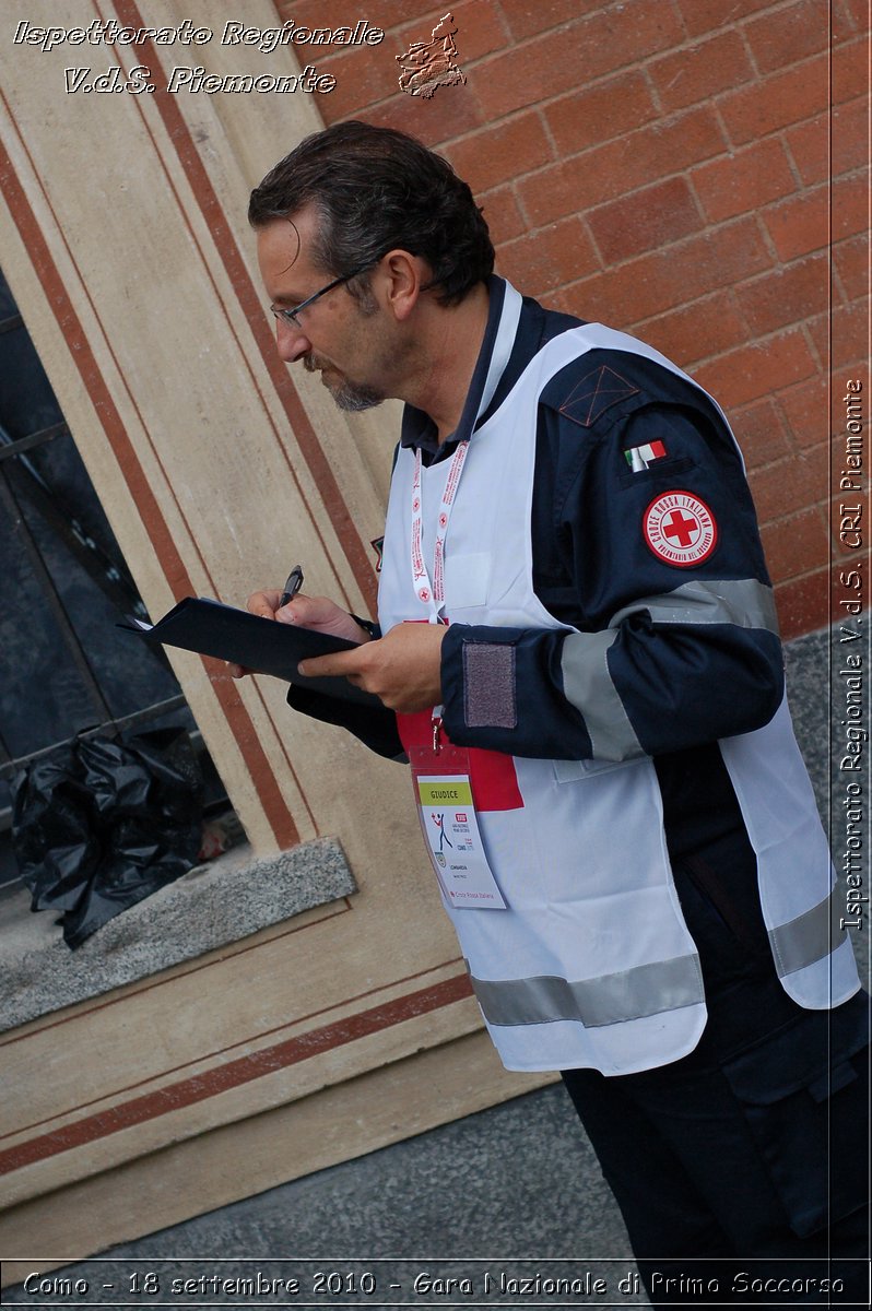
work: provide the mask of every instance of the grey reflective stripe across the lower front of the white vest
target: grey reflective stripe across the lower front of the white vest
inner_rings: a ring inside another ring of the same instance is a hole
[[[587,1029],[641,1020],[704,1000],[698,956],[637,965],[595,979],[543,974],[530,979],[477,979],[469,975],[489,1024],[552,1024],[581,1021]]]

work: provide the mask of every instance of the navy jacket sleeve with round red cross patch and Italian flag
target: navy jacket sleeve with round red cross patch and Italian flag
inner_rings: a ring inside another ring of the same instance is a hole
[[[640,388],[595,425],[540,413],[534,585],[572,629],[451,625],[442,690],[454,742],[624,760],[772,717],[772,589],[741,456],[707,401],[687,384],[678,402]]]

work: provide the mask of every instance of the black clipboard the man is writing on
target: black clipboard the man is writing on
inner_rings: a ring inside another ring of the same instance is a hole
[[[271,674],[285,683],[323,692],[342,701],[382,705],[378,696],[349,683],[346,678],[303,678],[296,666],[302,659],[353,650],[355,644],[311,628],[279,624],[274,619],[250,615],[247,610],[226,606],[208,597],[185,597],[156,624],[127,616],[118,624],[122,632],[135,633],[151,646],[178,646],[199,656],[233,661],[254,674]]]

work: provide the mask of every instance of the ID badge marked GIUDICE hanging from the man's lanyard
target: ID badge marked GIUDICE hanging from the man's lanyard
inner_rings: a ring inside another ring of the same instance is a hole
[[[424,840],[446,902],[456,910],[506,910],[490,872],[469,784],[469,754],[445,742],[409,753]]]

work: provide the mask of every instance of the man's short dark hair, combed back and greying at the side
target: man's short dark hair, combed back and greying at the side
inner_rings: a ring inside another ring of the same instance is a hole
[[[254,187],[248,220],[260,228],[311,202],[321,214],[312,258],[325,273],[341,277],[396,246],[426,260],[441,304],[458,304],[493,271],[468,185],[405,132],[351,119],[304,138]]]

